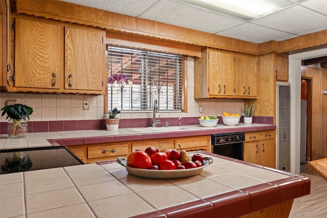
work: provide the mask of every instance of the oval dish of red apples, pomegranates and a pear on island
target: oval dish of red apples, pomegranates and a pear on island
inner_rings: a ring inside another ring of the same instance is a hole
[[[180,149],[161,152],[153,147],[136,150],[128,157],[118,157],[117,162],[126,167],[129,174],[150,179],[179,179],[195,176],[213,163],[213,158],[196,152],[192,156]]]

